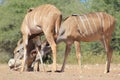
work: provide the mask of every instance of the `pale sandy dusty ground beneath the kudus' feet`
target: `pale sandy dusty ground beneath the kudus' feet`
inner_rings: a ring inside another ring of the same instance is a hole
[[[58,65],[58,70],[60,69]],[[51,66],[46,66],[46,71]],[[42,70],[42,69],[41,69]],[[111,64],[111,72],[104,74],[104,65],[66,65],[65,72],[19,72],[11,71],[7,64],[0,64],[0,80],[120,80],[120,64]]]

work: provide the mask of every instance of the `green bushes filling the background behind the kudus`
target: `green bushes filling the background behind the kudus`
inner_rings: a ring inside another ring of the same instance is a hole
[[[28,3],[29,2],[29,3]],[[71,14],[86,14],[88,12],[105,11],[116,18],[116,29],[112,37],[111,46],[115,52],[116,57],[120,55],[120,1],[119,0],[2,0],[0,3],[0,55],[4,57],[3,62],[7,61],[6,57],[12,57],[13,50],[19,38],[22,37],[20,26],[22,20],[31,7],[37,7],[42,4],[53,4],[61,10],[63,20]],[[62,44],[62,43],[61,43]],[[58,62],[64,55],[65,44],[58,47]],[[82,43],[82,55],[88,57],[89,55],[98,56],[105,52],[104,48],[98,42]],[[74,47],[70,55],[75,53]],[[6,57],[5,57],[6,56]],[[71,61],[75,57],[70,58]],[[83,58],[84,59],[84,58]],[[86,58],[89,59],[89,58]],[[118,58],[119,59],[119,58]],[[0,60],[0,62],[2,62]],[[59,61],[60,60],[60,61]],[[83,60],[87,61],[87,60]]]

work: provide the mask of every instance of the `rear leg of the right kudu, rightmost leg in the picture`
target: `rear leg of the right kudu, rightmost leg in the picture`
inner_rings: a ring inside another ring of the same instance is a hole
[[[107,53],[107,61],[106,61],[106,67],[105,67],[105,72],[104,73],[109,73],[109,71],[110,71],[110,62],[111,62],[112,52],[113,52],[111,47],[110,47],[110,39],[105,38],[105,36],[103,36],[101,42],[104,45],[106,53]]]

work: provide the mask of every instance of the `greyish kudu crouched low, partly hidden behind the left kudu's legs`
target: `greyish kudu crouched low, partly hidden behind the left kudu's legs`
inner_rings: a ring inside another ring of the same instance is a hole
[[[45,40],[41,44],[41,49],[40,52],[42,54],[42,57],[45,55],[49,55],[51,53],[51,47],[49,46],[48,42]],[[21,63],[23,59],[23,42],[22,39],[20,39],[17,43],[17,46],[14,50],[14,58],[11,58],[8,62],[8,65],[11,69],[13,70],[19,70],[21,68]],[[35,43],[31,39],[28,42],[28,53],[27,53],[27,68],[28,71],[34,70],[34,71],[39,71],[39,56],[37,55],[36,49],[35,49]],[[36,66],[35,66],[36,63]]]

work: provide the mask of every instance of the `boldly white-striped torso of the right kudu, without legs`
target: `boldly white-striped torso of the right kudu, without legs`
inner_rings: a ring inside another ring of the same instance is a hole
[[[83,41],[99,40],[102,35],[111,36],[115,19],[104,12],[69,16],[60,28],[60,35]]]

